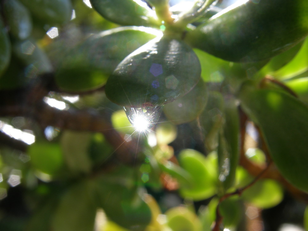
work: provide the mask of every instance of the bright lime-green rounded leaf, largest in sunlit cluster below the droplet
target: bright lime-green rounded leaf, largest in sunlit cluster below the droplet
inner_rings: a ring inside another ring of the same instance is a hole
[[[180,166],[191,175],[191,185],[181,185],[180,194],[196,201],[207,199],[216,193],[217,171],[215,159],[206,158],[200,152],[184,149],[179,154]]]

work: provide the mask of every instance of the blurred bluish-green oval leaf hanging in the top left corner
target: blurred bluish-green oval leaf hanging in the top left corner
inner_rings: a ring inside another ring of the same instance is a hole
[[[18,39],[26,39],[32,30],[31,15],[28,9],[17,0],[3,1],[3,12],[10,33]]]

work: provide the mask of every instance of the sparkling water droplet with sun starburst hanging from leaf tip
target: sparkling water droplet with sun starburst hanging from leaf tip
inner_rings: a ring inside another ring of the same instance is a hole
[[[152,128],[159,120],[162,108],[157,107],[124,107],[129,122],[138,130]]]

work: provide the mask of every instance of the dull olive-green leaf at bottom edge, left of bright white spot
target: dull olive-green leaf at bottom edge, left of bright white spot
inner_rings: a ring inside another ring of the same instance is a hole
[[[93,187],[93,182],[81,181],[67,189],[55,211],[53,230],[93,231],[96,215]]]

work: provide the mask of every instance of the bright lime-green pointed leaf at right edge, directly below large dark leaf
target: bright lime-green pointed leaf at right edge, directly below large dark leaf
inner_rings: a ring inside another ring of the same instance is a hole
[[[308,37],[295,57],[284,67],[272,73],[277,79],[288,79],[308,70]]]

